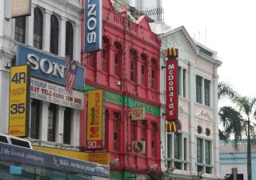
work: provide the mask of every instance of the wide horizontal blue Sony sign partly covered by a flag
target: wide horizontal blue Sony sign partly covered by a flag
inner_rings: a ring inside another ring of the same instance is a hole
[[[16,65],[20,66],[26,64],[30,64],[32,76],[65,86],[66,61],[63,58],[57,58],[40,50],[18,45]],[[83,82],[84,68],[78,66],[74,89],[83,90]]]

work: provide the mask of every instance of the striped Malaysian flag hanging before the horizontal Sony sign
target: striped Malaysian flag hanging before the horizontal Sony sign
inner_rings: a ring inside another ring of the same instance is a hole
[[[66,92],[70,94],[72,94],[77,69],[78,62],[66,58]]]

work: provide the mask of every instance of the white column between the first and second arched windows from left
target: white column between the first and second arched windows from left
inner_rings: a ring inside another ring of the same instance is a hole
[[[29,46],[34,45],[34,8],[35,5],[31,5],[31,15],[26,17],[26,39],[25,43]]]

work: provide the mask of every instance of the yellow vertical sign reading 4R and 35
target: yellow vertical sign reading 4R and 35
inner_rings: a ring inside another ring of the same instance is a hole
[[[9,134],[27,137],[30,126],[30,66],[10,67]]]

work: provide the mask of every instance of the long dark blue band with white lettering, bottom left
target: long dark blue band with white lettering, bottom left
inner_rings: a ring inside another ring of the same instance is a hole
[[[104,178],[109,178],[110,176],[110,168],[106,165],[48,154],[39,150],[31,150],[3,142],[0,142],[0,160],[24,163],[32,166],[50,167],[55,170],[67,170]],[[12,166],[10,171],[13,174],[19,174],[20,169]]]

